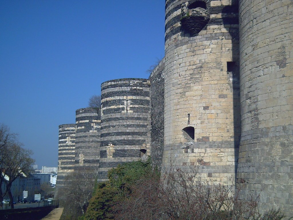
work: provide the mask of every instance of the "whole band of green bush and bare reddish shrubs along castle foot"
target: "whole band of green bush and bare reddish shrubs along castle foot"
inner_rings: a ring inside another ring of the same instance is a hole
[[[151,160],[125,163],[108,173],[108,182],[96,184],[86,212],[79,220],[280,220],[280,210],[258,212],[258,198],[238,199],[233,185],[194,181],[183,170],[158,172]],[[76,216],[77,217],[77,216]],[[73,219],[73,218],[71,218]]]

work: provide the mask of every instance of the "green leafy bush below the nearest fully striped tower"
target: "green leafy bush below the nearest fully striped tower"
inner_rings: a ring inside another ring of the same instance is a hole
[[[115,218],[115,204],[123,203],[131,194],[131,186],[153,174],[150,158],[146,163],[135,161],[118,165],[108,171],[108,182],[99,183],[86,214],[81,219],[111,220]],[[159,177],[159,173],[156,172]]]

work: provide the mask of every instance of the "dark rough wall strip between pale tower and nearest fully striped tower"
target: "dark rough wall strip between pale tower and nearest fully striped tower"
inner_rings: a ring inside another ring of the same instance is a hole
[[[151,159],[161,169],[164,150],[164,58],[152,71],[149,80],[151,98]]]

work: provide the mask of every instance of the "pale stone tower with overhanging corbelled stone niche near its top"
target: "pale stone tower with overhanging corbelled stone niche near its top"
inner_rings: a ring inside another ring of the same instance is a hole
[[[235,180],[240,136],[238,5],[166,0],[163,166]]]

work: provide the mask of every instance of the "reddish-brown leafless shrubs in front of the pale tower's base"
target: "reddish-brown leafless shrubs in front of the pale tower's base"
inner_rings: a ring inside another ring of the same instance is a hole
[[[137,181],[129,197],[115,206],[115,219],[278,220],[284,217],[278,210],[267,217],[260,215],[258,197],[240,200],[232,183],[209,185],[199,177],[198,166],[190,167],[189,171],[165,169],[161,178],[153,175]]]

